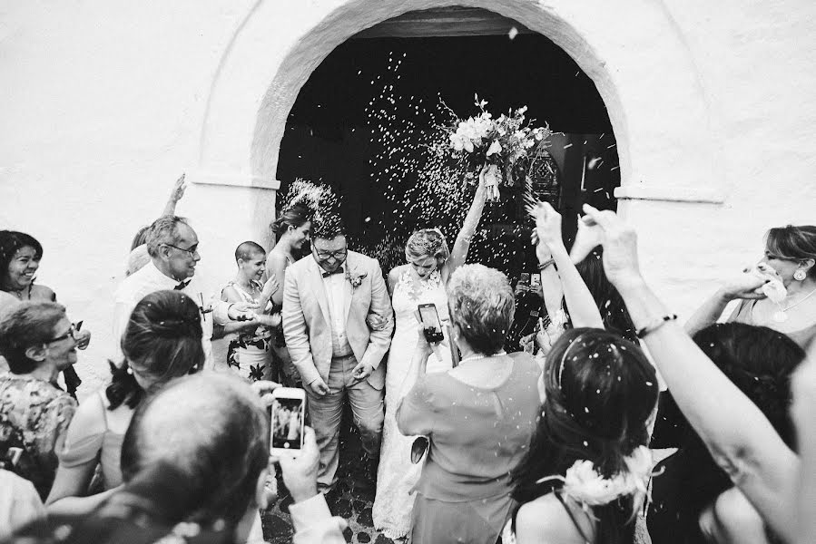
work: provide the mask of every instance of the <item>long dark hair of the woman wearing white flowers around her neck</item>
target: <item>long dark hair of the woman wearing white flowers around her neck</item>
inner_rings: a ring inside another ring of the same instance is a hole
[[[552,491],[575,461],[592,461],[605,478],[626,470],[624,458],[647,445],[646,429],[657,403],[654,367],[640,347],[601,329],[566,331],[546,356],[546,399],[524,459],[512,472],[512,496],[520,504]],[[633,495],[592,507],[595,541],[634,539]]]

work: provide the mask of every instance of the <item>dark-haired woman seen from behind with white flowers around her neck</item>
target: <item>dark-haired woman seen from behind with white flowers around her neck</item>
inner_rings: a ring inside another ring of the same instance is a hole
[[[575,328],[547,354],[542,380],[536,433],[513,471],[521,507],[502,541],[634,543],[652,474],[654,367],[618,335]]]

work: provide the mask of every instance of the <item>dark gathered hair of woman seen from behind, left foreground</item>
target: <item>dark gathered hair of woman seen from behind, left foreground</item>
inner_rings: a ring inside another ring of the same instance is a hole
[[[155,379],[158,385],[202,368],[199,307],[180,291],[145,296],[124,329],[122,353],[123,364],[109,362],[113,377],[105,394],[111,410],[122,403],[135,408],[142,401],[144,392],[133,372]]]

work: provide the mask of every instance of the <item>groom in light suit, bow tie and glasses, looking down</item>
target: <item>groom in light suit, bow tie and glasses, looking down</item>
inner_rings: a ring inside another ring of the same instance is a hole
[[[320,448],[318,485],[325,492],[336,483],[339,426],[348,398],[368,454],[364,485],[373,486],[384,416],[380,361],[391,343],[391,303],[379,263],[348,250],[339,218],[315,219],[311,228],[311,257],[286,271],[283,334]],[[369,314],[388,317],[388,323],[371,331]]]

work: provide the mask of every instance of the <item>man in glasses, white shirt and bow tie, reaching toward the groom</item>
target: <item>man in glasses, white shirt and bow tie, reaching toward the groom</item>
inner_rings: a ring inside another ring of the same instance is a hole
[[[241,324],[231,323],[231,320],[246,322],[256,319],[251,312],[252,306],[222,302],[204,287],[201,277],[195,275],[195,267],[202,260],[198,252],[198,236],[185,219],[177,216],[156,219],[148,229],[146,245],[151,261],[125,277],[116,290],[113,309],[116,360],[122,360],[119,339],[122,338],[133,307],[144,296],[155,291],[176,290],[190,296],[201,309],[202,344],[206,355],[204,366],[211,369],[213,324],[232,326],[237,330]]]

